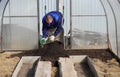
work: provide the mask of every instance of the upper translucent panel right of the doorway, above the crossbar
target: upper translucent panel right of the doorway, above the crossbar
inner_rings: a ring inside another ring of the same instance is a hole
[[[105,15],[99,0],[72,0],[72,3],[72,15]]]

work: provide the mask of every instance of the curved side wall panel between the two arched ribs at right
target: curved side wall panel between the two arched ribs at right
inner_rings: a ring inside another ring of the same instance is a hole
[[[115,23],[115,17],[114,13],[112,11],[112,7],[109,4],[108,0],[101,0],[106,14],[107,14],[107,20],[108,20],[108,34],[109,34],[109,42],[110,42],[110,48],[112,51],[117,55],[117,44],[116,44],[116,23]]]

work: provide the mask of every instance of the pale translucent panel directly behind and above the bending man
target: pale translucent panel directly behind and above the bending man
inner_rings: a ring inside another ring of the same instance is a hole
[[[50,11],[56,11],[57,7],[57,0],[39,0],[40,35],[42,35],[43,16]]]

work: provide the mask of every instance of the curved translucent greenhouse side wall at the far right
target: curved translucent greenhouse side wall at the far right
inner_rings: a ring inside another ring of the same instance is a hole
[[[108,19],[109,48],[120,57],[120,3],[118,0],[101,0]]]

